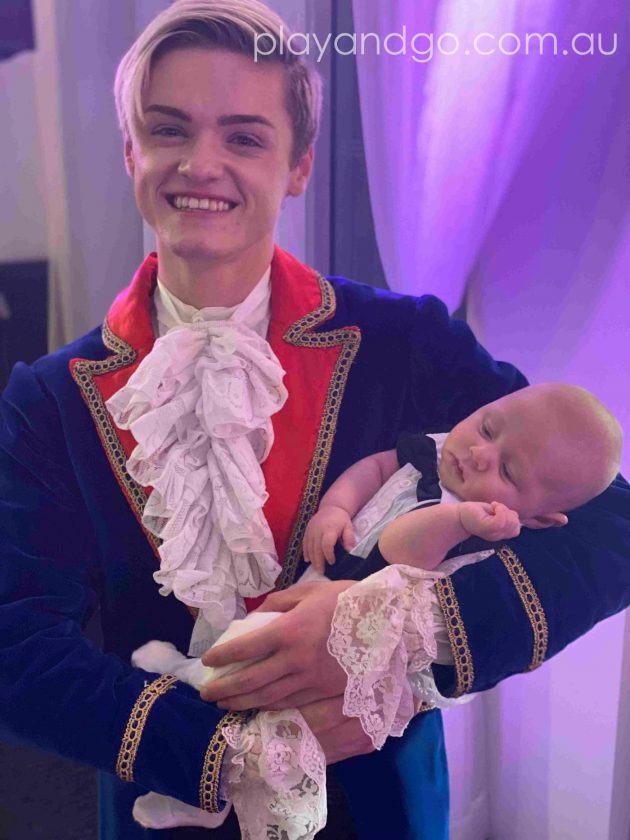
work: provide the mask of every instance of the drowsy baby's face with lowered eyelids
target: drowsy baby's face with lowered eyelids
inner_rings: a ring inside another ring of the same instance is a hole
[[[446,438],[442,484],[466,501],[502,502],[524,523],[555,512],[576,453],[554,434],[552,424],[535,390],[525,388],[484,406]]]

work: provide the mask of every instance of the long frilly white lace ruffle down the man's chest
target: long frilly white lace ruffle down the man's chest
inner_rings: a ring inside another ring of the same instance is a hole
[[[158,339],[107,401],[137,442],[129,474],[153,488],[142,521],[162,540],[160,594],[200,608],[219,630],[280,571],[260,464],[287,398],[283,376],[249,327],[204,321]]]

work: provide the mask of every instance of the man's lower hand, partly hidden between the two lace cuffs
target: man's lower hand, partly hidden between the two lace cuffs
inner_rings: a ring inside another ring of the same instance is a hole
[[[374,745],[358,718],[347,718],[343,712],[343,695],[317,700],[300,708],[326,756],[326,764],[334,764],[354,755],[374,751]]]

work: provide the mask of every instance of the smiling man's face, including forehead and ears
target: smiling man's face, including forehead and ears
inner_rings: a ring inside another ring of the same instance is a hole
[[[176,50],[153,68],[143,109],[125,162],[158,255],[204,266],[270,259],[282,200],[303,192],[312,162],[311,152],[290,166],[283,68]],[[207,199],[208,209],[179,209],[184,196]]]

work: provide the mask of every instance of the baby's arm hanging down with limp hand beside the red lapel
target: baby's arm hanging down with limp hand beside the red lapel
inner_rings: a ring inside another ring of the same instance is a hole
[[[335,562],[335,543],[341,537],[349,551],[354,545],[352,517],[398,469],[396,450],[376,452],[342,473],[319,503],[304,533],[304,559],[324,573],[326,560]]]

